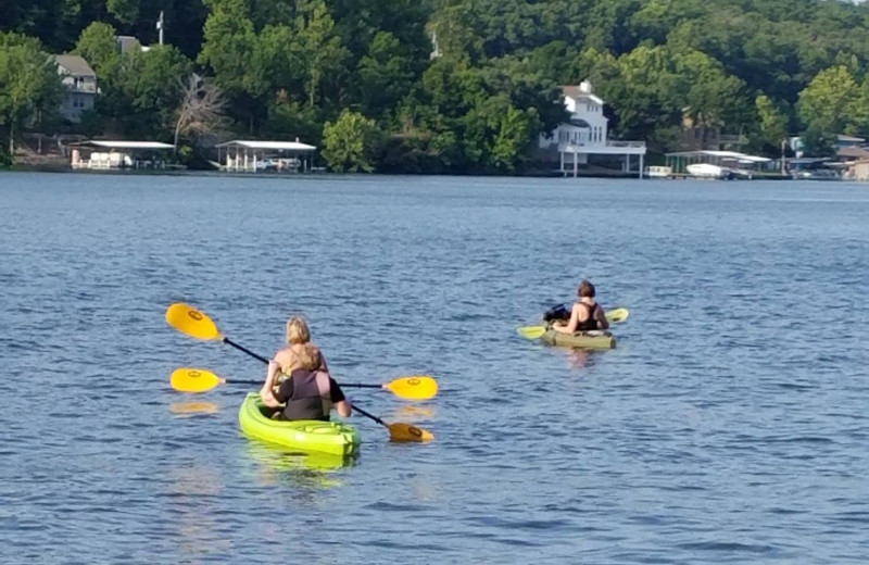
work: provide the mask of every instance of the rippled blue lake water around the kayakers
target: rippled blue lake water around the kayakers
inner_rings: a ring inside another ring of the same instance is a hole
[[[0,175],[0,562],[866,563],[869,189],[845,183]],[[528,341],[590,277],[618,347]],[[238,430],[304,313],[355,465]]]

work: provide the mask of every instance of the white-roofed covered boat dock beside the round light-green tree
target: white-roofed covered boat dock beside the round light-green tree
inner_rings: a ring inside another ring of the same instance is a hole
[[[221,171],[307,173],[316,147],[295,141],[236,139],[215,146]]]

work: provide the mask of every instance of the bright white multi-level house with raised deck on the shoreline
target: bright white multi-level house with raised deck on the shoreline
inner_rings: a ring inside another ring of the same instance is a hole
[[[645,141],[615,141],[608,139],[609,120],[604,116],[604,101],[594,95],[591,83],[583,80],[579,86],[562,87],[565,109],[570,120],[561,124],[550,135],[541,135],[539,148],[543,153],[554,155],[557,151],[561,168],[565,168],[565,155],[570,159],[574,176],[579,164],[587,164],[589,155],[625,155],[622,171],[631,167],[631,155],[639,155],[638,173],[643,176]]]

